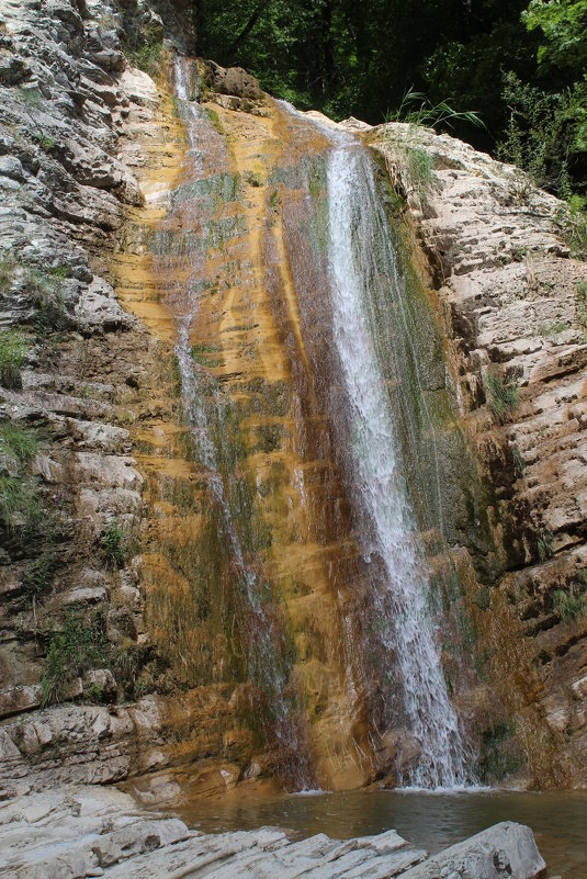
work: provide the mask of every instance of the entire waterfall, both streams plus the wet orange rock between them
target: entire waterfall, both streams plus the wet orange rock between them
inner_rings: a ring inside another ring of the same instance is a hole
[[[271,122],[240,123],[266,139],[259,170],[236,172],[193,63],[174,80],[189,150],[156,264],[222,548],[213,643],[229,645],[202,679],[244,666],[247,722],[292,789],[363,782],[387,734],[399,786],[466,786],[421,537],[442,551],[433,418],[371,157],[274,102]]]

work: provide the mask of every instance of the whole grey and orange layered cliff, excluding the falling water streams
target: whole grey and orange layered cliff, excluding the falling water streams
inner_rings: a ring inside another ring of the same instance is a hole
[[[206,793],[279,764],[239,676],[232,570],[221,571],[210,485],[181,421],[169,268],[182,271],[185,258],[173,236],[194,196],[185,173],[197,149],[168,83],[181,4],[159,11],[165,43],[154,4],[0,8],[4,796],[134,778],[145,798],[171,801],[178,781]],[[216,275],[200,279],[196,292],[210,295],[192,357],[247,425],[244,440],[229,419],[218,429],[256,474],[252,499],[242,481],[238,503],[255,523],[251,546],[272,545],[267,570],[282,587],[279,624],[285,653],[295,645],[315,763],[339,787],[365,784],[385,777],[396,750],[392,734],[373,745],[366,699],[352,703],[341,669],[343,655],[360,663],[341,644],[358,635],[345,620],[362,611],[354,586],[366,575],[350,541],[332,542],[348,504],[314,398],[295,409],[289,391],[294,373],[306,381],[307,362],[292,367],[305,351],[284,243],[308,222],[302,207],[289,232],[280,218],[280,193],[298,189],[284,144],[300,162],[312,154],[319,203],[324,138],[296,139],[245,71],[208,63],[200,72],[217,132],[217,153],[202,161],[216,189],[204,180],[195,194],[204,213],[222,201],[226,214],[222,224],[211,214]],[[523,174],[450,137],[343,127],[383,156],[390,212],[443,333],[447,369],[431,387],[460,409],[439,442],[463,585],[460,649],[474,668],[462,715],[478,721],[489,780],[585,787],[587,277],[573,228]],[[311,233],[319,249],[320,230]],[[167,263],[161,240],[171,241]],[[269,267],[264,286],[258,262]],[[308,277],[297,295],[311,301],[319,283]],[[312,461],[305,483],[301,449]],[[325,497],[331,516],[320,519]],[[292,559],[303,576],[292,576]]]

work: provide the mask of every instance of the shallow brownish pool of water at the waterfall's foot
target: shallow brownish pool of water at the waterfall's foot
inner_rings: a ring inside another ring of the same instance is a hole
[[[303,836],[348,838],[394,827],[431,853],[499,821],[518,821],[532,827],[549,877],[587,879],[587,792],[360,791],[210,799],[185,807],[181,816],[190,826],[214,833],[271,824]]]

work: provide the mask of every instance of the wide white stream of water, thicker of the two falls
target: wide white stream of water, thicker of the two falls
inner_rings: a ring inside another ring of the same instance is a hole
[[[370,157],[349,135],[336,133],[331,138],[328,270],[334,339],[352,435],[353,483],[384,571],[373,596],[382,623],[379,638],[388,662],[398,666],[406,726],[420,748],[416,766],[400,781],[456,788],[467,781],[463,742],[441,667],[429,609],[431,573],[405,485],[396,417],[377,351],[382,329],[374,304],[382,285],[391,286],[396,319],[405,325],[402,280]],[[394,369],[407,367],[395,358]],[[402,385],[400,374],[394,380]],[[416,380],[419,384],[417,374]],[[420,387],[421,405],[426,414]]]

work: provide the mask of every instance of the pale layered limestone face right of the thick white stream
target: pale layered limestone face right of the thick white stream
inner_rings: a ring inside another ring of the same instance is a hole
[[[470,590],[477,656],[494,656],[485,680],[531,730],[522,774],[583,787],[587,264],[574,256],[564,204],[523,172],[429,129],[394,123],[366,137],[407,200],[484,474],[496,555],[464,534],[460,542],[488,585],[483,598]],[[432,159],[428,182],[410,173],[415,150]],[[512,393],[500,407],[504,387]]]

